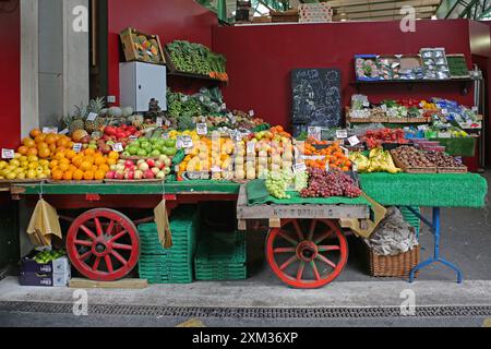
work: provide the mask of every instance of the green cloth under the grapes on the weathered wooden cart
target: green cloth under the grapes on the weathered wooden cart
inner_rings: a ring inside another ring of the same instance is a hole
[[[311,204],[311,205],[370,205],[370,203],[364,197],[301,197],[297,192],[288,192],[291,196],[290,198],[276,198],[271,196],[267,193],[265,181],[262,179],[258,179],[254,181],[250,181],[247,184],[248,192],[248,205],[261,205],[261,204],[278,204],[278,205],[301,205],[301,204]]]

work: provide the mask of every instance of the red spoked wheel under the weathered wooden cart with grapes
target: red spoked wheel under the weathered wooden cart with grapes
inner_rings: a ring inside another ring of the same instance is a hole
[[[348,243],[328,219],[282,220],[266,241],[273,272],[295,288],[320,288],[333,281],[348,261]]]

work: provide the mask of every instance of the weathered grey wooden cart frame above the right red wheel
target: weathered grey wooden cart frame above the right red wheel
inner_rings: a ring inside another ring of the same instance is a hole
[[[369,219],[370,208],[366,205],[254,205],[248,206],[246,185],[240,186],[237,201],[239,230],[244,230],[249,219],[268,219],[271,228],[278,228],[282,219]]]

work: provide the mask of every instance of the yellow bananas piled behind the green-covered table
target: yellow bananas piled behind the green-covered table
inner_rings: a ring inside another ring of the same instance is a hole
[[[370,152],[369,157],[360,152],[355,152],[349,155],[349,159],[357,164],[358,172],[388,172],[398,173],[402,170],[397,168],[392,159],[390,152],[384,152],[382,148],[374,148]]]

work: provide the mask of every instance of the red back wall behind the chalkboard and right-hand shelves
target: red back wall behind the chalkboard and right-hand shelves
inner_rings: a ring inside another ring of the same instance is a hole
[[[402,33],[398,22],[356,22],[310,25],[259,25],[215,27],[213,48],[227,56],[230,83],[227,105],[256,115],[272,123],[290,123],[290,71],[297,68],[342,70],[344,104],[356,89],[356,53],[417,53],[421,47],[444,47],[448,53],[465,53],[470,68],[469,26],[465,20],[418,21],[415,33]],[[405,86],[367,87],[361,93],[373,101],[407,97]],[[460,96],[456,85],[415,88],[411,96],[447,97],[470,105],[472,94]]]

